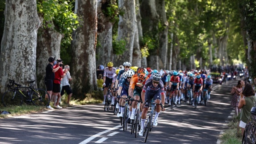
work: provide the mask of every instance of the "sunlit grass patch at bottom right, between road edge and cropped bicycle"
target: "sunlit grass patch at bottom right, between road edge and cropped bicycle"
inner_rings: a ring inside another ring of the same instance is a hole
[[[241,144],[241,128],[238,126],[240,116],[236,116],[228,124],[228,129],[226,129],[221,136],[221,144]]]

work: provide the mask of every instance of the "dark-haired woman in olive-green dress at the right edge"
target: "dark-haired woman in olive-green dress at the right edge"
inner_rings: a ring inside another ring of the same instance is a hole
[[[242,129],[242,136],[244,135],[244,128],[251,116],[251,109],[256,102],[256,96],[254,96],[254,90],[251,84],[246,84],[244,90],[240,92],[240,101],[238,108],[241,108],[240,124]]]

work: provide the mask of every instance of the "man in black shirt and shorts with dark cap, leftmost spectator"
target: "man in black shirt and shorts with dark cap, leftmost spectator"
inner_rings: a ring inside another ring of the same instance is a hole
[[[48,65],[45,68],[45,77],[44,77],[44,84],[46,85],[46,91],[48,92],[50,99],[52,97],[52,89],[53,89],[53,80],[55,77],[55,72],[57,72],[60,66],[53,68],[55,57],[50,56],[48,58]],[[50,105],[46,106],[49,109],[53,109]]]

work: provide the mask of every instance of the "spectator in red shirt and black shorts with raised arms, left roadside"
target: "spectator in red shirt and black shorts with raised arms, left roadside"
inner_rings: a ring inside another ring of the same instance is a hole
[[[56,60],[56,65],[53,68],[60,67],[57,72],[55,72],[55,77],[53,80],[53,92],[52,92],[52,101],[54,102],[55,108],[62,108],[59,106],[60,101],[60,81],[61,78],[67,75],[68,69],[65,69],[65,71],[62,70],[62,63],[63,61],[59,58]],[[58,97],[56,101],[56,96]],[[56,102],[56,103],[55,103]]]

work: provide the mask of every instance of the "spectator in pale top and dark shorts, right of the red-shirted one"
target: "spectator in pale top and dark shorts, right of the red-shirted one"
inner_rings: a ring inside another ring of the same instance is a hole
[[[61,92],[60,92],[60,96],[64,95],[64,91],[67,92],[67,94],[68,94],[68,101],[67,101],[68,106],[70,106],[69,102],[70,102],[70,99],[71,99],[71,96],[72,96],[72,90],[71,90],[70,84],[69,84],[69,81],[71,81],[72,78],[70,76],[69,70],[70,70],[69,65],[65,65],[63,72],[64,73],[66,72],[66,75],[61,79],[62,89],[61,89]]]

